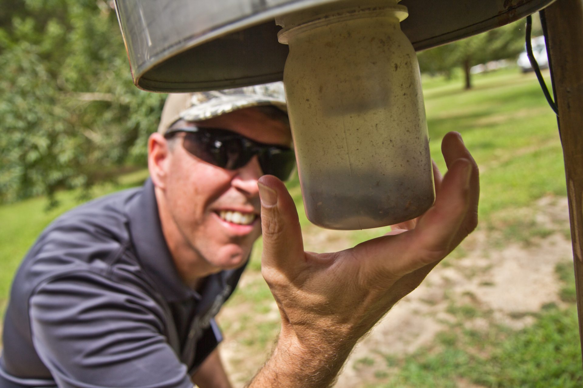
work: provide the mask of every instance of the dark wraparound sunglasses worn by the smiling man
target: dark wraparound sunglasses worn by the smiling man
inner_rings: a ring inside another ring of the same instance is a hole
[[[226,129],[187,127],[169,129],[164,137],[185,133],[182,146],[203,161],[224,168],[241,168],[255,155],[264,174],[289,179],[296,165],[293,149],[280,145],[263,144]]]

